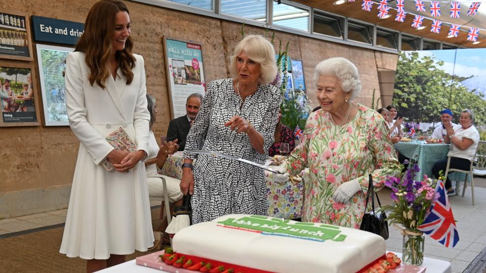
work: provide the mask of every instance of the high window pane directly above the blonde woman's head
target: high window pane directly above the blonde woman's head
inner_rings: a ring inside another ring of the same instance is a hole
[[[221,0],[221,13],[266,22],[265,0]]]

